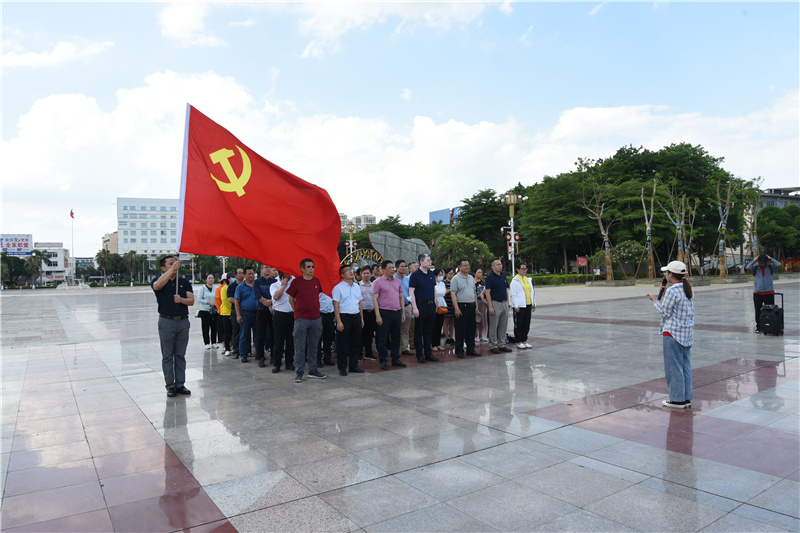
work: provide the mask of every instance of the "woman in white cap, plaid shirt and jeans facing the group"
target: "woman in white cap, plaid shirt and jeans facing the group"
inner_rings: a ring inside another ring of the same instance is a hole
[[[694,342],[694,300],[692,286],[686,280],[686,265],[672,261],[661,268],[664,278],[672,285],[662,299],[647,297],[661,314],[661,333],[664,345],[664,374],[669,388],[669,400],[664,407],[687,409],[692,406],[692,361]],[[660,295],[659,295],[660,296]]]

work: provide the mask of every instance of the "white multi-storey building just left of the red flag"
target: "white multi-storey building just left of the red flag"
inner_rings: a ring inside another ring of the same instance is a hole
[[[178,246],[178,200],[117,198],[117,248],[155,260]]]

